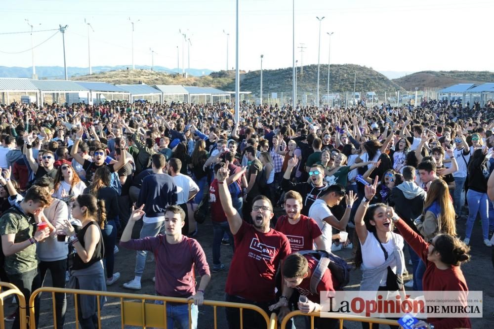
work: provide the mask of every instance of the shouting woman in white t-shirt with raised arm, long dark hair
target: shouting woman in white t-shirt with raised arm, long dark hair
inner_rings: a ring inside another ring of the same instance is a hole
[[[403,238],[393,233],[392,220],[386,216],[385,204],[369,205],[377,184],[378,177],[375,177],[373,184],[365,187],[365,198],[355,213],[355,231],[360,242],[355,264],[361,267],[363,276],[360,290],[402,290],[405,269]],[[363,328],[366,328],[364,324]]]

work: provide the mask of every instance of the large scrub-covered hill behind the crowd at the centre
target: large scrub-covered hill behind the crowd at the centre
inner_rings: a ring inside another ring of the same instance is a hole
[[[344,64],[331,65],[331,90],[352,91],[354,74],[357,72],[357,91],[394,91],[400,87],[387,79],[384,75],[364,66]],[[260,71],[241,72],[241,90],[252,91],[258,95],[260,89]],[[74,77],[79,81],[104,81],[110,83],[146,83],[155,84],[182,84],[190,86],[208,86],[222,90],[235,90],[235,71],[212,72],[208,76],[183,78],[164,72],[150,70],[118,70],[101,72],[91,76]],[[321,65],[320,93],[324,94],[328,83],[328,65]],[[317,86],[317,65],[305,66],[303,75],[298,72],[297,88],[299,92],[315,93]],[[263,93],[291,92],[292,69],[263,70]]]

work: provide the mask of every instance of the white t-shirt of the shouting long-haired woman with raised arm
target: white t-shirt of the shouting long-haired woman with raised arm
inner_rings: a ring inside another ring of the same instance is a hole
[[[399,234],[396,233],[391,233],[396,237],[396,241],[398,243],[398,247],[400,249],[403,249],[404,242],[403,242],[403,237]],[[395,243],[393,239],[389,239],[389,241],[385,244],[382,244],[384,249],[388,252],[388,255],[392,254],[394,252],[395,248]],[[379,246],[379,241],[374,237],[374,234],[372,232],[367,231],[367,239],[365,243],[362,245],[360,244],[360,247],[362,247],[362,267],[363,268],[375,268],[377,266],[380,266],[384,264],[386,259],[384,258],[384,252],[382,251],[381,246]],[[391,266],[391,269],[393,272],[396,273],[396,262],[394,262]],[[386,278],[388,276],[388,272],[386,271],[382,278],[380,278],[380,283],[379,286],[384,287],[386,286]]]

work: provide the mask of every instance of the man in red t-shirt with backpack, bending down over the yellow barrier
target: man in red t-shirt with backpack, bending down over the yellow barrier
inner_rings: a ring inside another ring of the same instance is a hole
[[[306,296],[308,299],[305,303],[298,302],[298,309],[303,313],[311,313],[321,312],[322,307],[319,304],[321,293],[325,293],[326,296],[329,297],[328,291],[335,291],[334,287],[339,285],[329,268],[327,268],[321,281],[317,285],[317,294],[311,291],[310,285],[312,274],[318,263],[319,259],[314,256],[310,254],[301,255],[297,252],[288,255],[283,261],[283,294],[278,303],[269,307],[270,311],[280,308],[280,313],[278,315],[280,321],[290,312],[290,309],[288,308],[288,299],[293,293],[293,289],[297,290],[301,295]],[[306,320],[310,319],[309,317],[305,318]],[[338,324],[339,321],[337,319],[314,319],[314,328],[336,329],[339,328]]]

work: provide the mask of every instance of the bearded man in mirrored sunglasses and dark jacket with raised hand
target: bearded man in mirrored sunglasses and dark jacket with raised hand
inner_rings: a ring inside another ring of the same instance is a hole
[[[296,158],[291,158],[288,160],[287,170],[283,175],[281,187],[285,192],[292,190],[300,193],[303,199],[303,208],[301,212],[303,215],[307,216],[310,206],[312,206],[314,201],[316,201],[317,198],[329,188],[329,185],[323,180],[324,167],[321,164],[314,164],[310,167],[310,182],[290,182],[291,170],[297,165],[297,163],[298,160]]]

